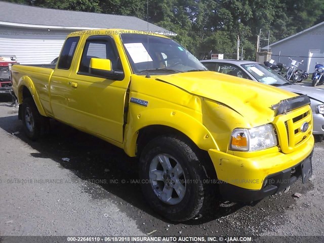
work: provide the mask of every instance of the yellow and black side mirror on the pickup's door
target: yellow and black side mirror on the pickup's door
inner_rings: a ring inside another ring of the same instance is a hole
[[[99,77],[105,77],[114,80],[123,80],[124,72],[112,70],[111,61],[109,59],[91,58],[89,73]]]

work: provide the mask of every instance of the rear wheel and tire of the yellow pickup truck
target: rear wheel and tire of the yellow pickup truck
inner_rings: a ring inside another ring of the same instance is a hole
[[[22,122],[27,137],[33,141],[41,136],[43,116],[31,97],[24,99],[22,103]]]

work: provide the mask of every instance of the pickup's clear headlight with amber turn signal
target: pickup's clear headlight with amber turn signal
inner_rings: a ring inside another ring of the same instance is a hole
[[[271,124],[252,129],[234,129],[230,149],[239,151],[257,151],[277,145],[277,138]]]

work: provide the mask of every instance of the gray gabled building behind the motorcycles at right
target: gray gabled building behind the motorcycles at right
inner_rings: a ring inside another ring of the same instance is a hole
[[[304,60],[304,65],[300,65],[300,69],[312,73],[314,71],[314,63],[322,62],[323,58],[320,57],[324,57],[324,25],[270,46],[270,49],[273,60],[279,61],[278,55],[280,52],[280,62],[290,64],[291,61],[288,57],[298,61]],[[313,55],[313,58],[308,58],[309,51],[313,49],[319,50],[321,55]]]

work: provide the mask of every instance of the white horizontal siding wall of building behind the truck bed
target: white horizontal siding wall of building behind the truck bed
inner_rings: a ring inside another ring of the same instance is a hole
[[[0,26],[0,55],[16,55],[21,64],[49,64],[59,56],[70,32]]]

